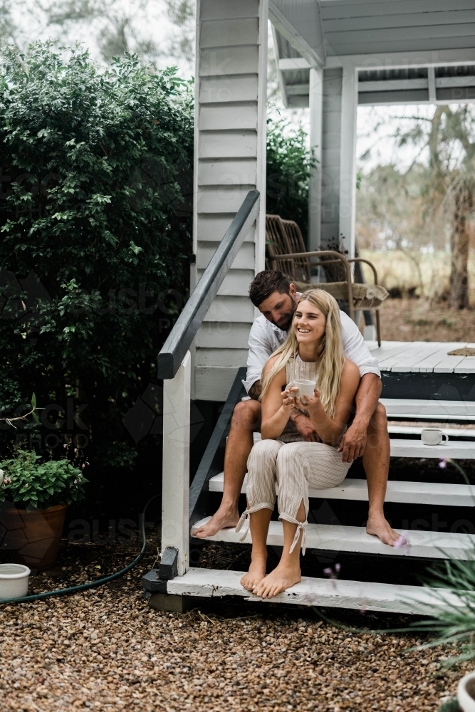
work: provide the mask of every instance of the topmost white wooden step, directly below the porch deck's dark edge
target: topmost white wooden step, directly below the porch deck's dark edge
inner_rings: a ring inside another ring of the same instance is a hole
[[[475,401],[380,398],[388,418],[475,421]]]

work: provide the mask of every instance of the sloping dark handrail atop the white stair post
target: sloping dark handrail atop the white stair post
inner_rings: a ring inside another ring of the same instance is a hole
[[[158,378],[173,378],[176,375],[184,355],[197,335],[216,293],[259,213],[259,197],[259,190],[250,190],[246,195],[202,278],[192,291],[158,355]]]

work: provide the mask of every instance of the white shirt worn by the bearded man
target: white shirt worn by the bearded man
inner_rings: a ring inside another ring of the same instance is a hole
[[[375,373],[381,377],[377,359],[372,357],[370,350],[365,344],[357,325],[340,310],[343,353],[353,361],[360,369],[360,376],[365,373]],[[261,314],[251,326],[249,332],[249,353],[247,356],[247,374],[243,381],[246,392],[249,393],[251,385],[261,380],[262,369],[267,359],[273,354],[287,338],[287,332],[279,329]]]

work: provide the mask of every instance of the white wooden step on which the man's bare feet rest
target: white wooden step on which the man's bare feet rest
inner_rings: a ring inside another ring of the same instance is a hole
[[[211,517],[206,517],[194,525],[194,529],[206,524]],[[475,535],[451,534],[444,532],[427,532],[410,530],[403,532],[408,545],[395,548],[383,544],[376,536],[366,533],[364,527],[347,527],[328,524],[308,524],[307,541],[308,549],[323,549],[327,551],[350,551],[365,554],[386,554],[388,556],[418,556],[430,559],[469,559],[475,547]],[[223,541],[239,543],[242,531],[236,533],[234,528],[221,529],[214,536],[207,537],[209,541]],[[245,544],[251,543],[251,533],[247,532]],[[267,535],[269,546],[283,545],[283,531],[281,522],[271,522]]]

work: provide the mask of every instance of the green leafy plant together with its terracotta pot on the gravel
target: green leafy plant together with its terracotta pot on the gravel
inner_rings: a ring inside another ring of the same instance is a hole
[[[2,548],[9,549],[16,563],[44,570],[56,561],[66,509],[81,501],[84,484],[82,455],[65,445],[63,457],[45,458],[35,451],[16,449],[14,455],[0,462],[0,511],[3,530]],[[11,506],[14,504],[14,506]]]

